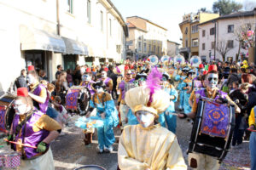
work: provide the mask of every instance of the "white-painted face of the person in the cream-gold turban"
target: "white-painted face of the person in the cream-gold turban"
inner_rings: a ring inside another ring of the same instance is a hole
[[[137,121],[143,127],[149,127],[150,125],[154,124],[154,114],[148,111],[137,111],[136,116],[137,116]]]

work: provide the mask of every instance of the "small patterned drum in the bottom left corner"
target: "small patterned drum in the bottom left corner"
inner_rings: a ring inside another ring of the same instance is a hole
[[[20,153],[6,151],[0,154],[0,167],[16,168],[20,166]]]

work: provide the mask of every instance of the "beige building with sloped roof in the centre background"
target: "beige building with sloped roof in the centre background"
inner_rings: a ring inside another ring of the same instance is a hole
[[[151,54],[167,54],[167,29],[138,16],[126,18],[129,37],[126,39],[127,57],[143,59]]]

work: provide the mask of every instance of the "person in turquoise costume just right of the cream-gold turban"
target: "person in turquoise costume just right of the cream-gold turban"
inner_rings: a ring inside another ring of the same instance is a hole
[[[176,133],[176,116],[173,116],[171,113],[175,112],[175,102],[177,102],[177,90],[168,82],[169,75],[164,72],[162,75],[162,89],[166,91],[167,94],[170,95],[170,105],[159,115],[158,122],[160,122],[162,127],[166,127],[166,123],[168,126],[168,130],[172,131],[172,133]]]

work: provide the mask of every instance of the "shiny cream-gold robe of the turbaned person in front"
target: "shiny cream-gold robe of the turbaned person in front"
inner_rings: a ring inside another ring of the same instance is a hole
[[[175,134],[160,124],[126,126],[119,139],[121,170],[187,169]]]

